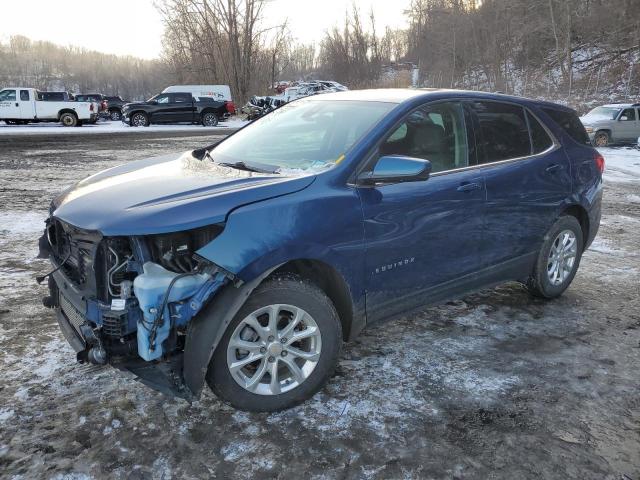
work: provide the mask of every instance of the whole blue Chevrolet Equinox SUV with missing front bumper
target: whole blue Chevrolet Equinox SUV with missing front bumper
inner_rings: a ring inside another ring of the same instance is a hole
[[[507,281],[561,295],[598,230],[603,170],[552,103],[309,97],[59,195],[44,304],[81,362],[280,410],[318,391],[366,325]]]

